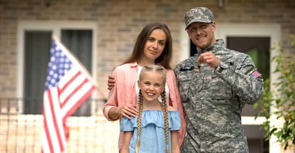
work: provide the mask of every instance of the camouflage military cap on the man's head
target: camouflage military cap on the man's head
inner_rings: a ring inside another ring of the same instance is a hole
[[[190,23],[193,23],[193,22],[211,23],[214,21],[214,16],[212,11],[210,11],[208,8],[196,7],[187,11],[183,19],[185,20],[185,30],[186,30],[187,26],[189,26]]]

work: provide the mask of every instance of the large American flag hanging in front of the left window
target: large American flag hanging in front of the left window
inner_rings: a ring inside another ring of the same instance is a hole
[[[67,117],[91,95],[95,83],[68,49],[53,37],[43,93],[42,152],[66,151]]]

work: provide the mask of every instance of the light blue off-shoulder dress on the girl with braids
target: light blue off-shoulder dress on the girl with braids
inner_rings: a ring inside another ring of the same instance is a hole
[[[180,130],[180,113],[177,110],[168,111],[169,130]],[[167,153],[165,139],[165,123],[162,110],[143,110],[140,133],[140,153]],[[138,140],[138,117],[128,120],[122,117],[121,131],[133,131],[129,152],[135,152]],[[169,132],[169,148],[171,152],[171,136]]]

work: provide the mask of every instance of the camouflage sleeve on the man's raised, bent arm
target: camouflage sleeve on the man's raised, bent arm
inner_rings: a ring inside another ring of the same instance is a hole
[[[252,105],[262,95],[264,81],[260,76],[252,76],[254,72],[257,72],[257,68],[250,56],[245,56],[242,62],[233,65],[221,62],[214,71],[215,74],[229,83],[242,105]]]

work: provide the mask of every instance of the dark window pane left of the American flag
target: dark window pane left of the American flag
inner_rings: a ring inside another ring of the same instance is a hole
[[[41,114],[51,31],[25,31],[24,113]]]

